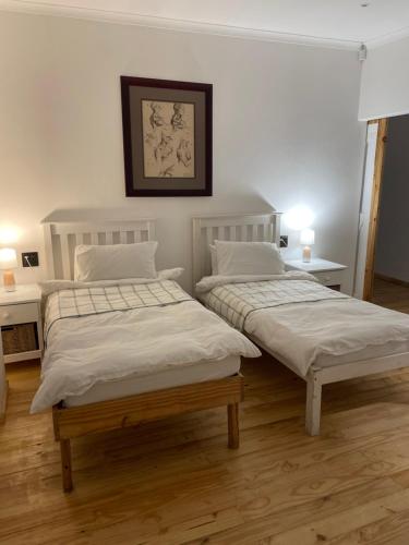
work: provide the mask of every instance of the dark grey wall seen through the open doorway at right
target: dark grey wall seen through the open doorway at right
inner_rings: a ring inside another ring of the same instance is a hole
[[[409,282],[409,116],[389,120],[375,272]]]

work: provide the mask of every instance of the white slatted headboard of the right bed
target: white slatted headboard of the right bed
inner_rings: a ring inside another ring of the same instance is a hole
[[[193,218],[193,287],[212,271],[209,244],[215,240],[266,241],[279,246],[281,213]]]

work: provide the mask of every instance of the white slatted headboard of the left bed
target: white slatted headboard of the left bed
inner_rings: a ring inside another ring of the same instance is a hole
[[[44,225],[48,278],[74,278],[74,250],[79,244],[131,244],[155,240],[155,220],[52,222]]]

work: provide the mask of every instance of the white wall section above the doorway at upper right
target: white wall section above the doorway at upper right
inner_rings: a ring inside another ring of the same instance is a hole
[[[409,37],[370,49],[362,66],[359,119],[409,113]]]

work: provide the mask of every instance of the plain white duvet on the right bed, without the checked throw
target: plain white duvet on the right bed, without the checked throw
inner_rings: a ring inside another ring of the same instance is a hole
[[[286,277],[294,279],[290,272],[276,279],[270,277],[269,281],[279,283]],[[215,287],[228,283],[240,286],[245,280],[256,279],[207,277],[197,284],[197,291],[207,304]],[[285,283],[287,293],[290,282]],[[323,289],[313,282],[311,289],[314,290],[315,286]],[[303,376],[312,364],[335,364],[337,358],[342,358],[342,362],[362,359],[362,351],[369,348],[373,349],[371,358],[377,352],[378,355],[387,355],[385,347],[399,348],[398,343],[409,343],[409,316],[406,314],[353,298],[305,302],[302,293],[294,293],[294,296],[297,302],[254,310],[246,316],[243,328],[257,337],[277,359]]]

